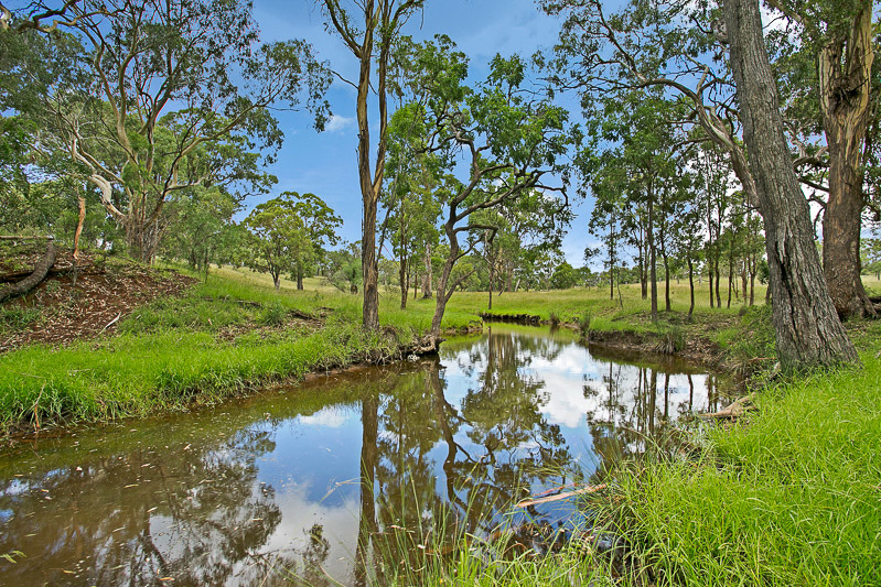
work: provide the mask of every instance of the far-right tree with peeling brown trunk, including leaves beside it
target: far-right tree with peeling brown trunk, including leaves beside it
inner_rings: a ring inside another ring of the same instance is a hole
[[[874,315],[860,279],[860,232],[872,116],[872,64],[875,35],[871,0],[769,0],[788,22],[775,35],[784,70],[795,83],[788,113],[804,132],[825,133],[824,152],[804,159],[828,164],[828,197],[823,220],[826,283],[842,317]],[[801,74],[801,75],[799,75]],[[794,78],[794,79],[793,79]],[[801,111],[796,111],[796,109]],[[807,120],[805,120],[807,118]],[[812,120],[813,119],[813,120]],[[815,121],[819,121],[817,129]]]

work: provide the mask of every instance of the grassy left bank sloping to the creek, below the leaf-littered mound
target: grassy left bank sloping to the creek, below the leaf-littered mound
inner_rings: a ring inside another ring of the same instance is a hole
[[[136,309],[112,336],[0,355],[0,432],[180,410],[310,371],[394,358],[427,329],[430,314],[393,304],[384,297],[384,328],[365,334],[357,296],[276,292],[223,271],[183,297]],[[453,312],[444,326],[473,320]]]

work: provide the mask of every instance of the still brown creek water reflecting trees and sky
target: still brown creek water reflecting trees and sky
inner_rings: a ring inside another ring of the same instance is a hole
[[[0,455],[0,583],[363,584],[400,536],[426,555],[464,531],[569,523],[567,502],[512,504],[602,482],[727,389],[494,325],[431,360],[21,443]]]

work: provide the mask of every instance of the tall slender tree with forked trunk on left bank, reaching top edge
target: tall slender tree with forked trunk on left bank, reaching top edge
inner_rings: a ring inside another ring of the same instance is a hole
[[[407,20],[422,8],[425,0],[316,0],[335,31],[358,63],[355,112],[358,123],[358,181],[364,206],[362,221],[362,271],[364,282],[363,326],[379,327],[379,265],[376,254],[376,214],[383,188],[388,145],[388,74],[393,44]],[[367,101],[376,68],[376,96],[379,109],[379,138],[370,142]],[[375,163],[370,163],[375,150]]]

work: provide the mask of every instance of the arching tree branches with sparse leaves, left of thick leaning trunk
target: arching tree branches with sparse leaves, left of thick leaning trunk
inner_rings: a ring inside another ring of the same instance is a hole
[[[690,106],[683,118],[730,155],[734,174],[752,202],[755,180],[738,139],[733,83],[718,40],[719,10],[711,3],[628,0],[608,13],[602,0],[541,0],[565,17],[548,65],[561,88],[578,89],[592,108],[597,97],[660,88]]]

